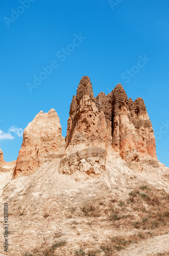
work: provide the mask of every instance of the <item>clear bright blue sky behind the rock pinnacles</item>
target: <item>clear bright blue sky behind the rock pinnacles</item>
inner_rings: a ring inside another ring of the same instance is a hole
[[[17,158],[21,129],[41,110],[57,111],[66,136],[72,96],[87,75],[95,96],[122,83],[128,97],[144,99],[158,159],[169,166],[168,10],[164,0],[1,1],[0,146],[5,160]]]

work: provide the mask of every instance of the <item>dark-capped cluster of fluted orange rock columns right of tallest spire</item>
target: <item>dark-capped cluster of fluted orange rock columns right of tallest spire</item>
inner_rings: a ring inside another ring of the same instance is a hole
[[[130,168],[142,171],[140,157],[157,159],[154,131],[142,98],[133,102],[118,84],[107,96],[100,93],[96,106],[105,114],[108,140]]]

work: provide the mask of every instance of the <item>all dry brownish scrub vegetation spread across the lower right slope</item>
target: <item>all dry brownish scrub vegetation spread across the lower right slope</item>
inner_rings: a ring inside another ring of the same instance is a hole
[[[73,212],[70,227],[75,233],[76,225],[79,224],[79,221],[75,219],[76,217],[77,219],[85,217],[84,222],[80,219],[80,224],[87,225],[89,229],[91,227],[95,228],[95,225],[102,224],[104,226],[108,223],[112,226],[112,229],[115,227],[119,230],[133,230],[132,236],[127,233],[123,235],[123,232],[120,232],[120,236],[107,238],[99,248],[93,248],[92,244],[82,244],[80,249],[74,250],[75,255],[114,255],[115,252],[126,248],[131,243],[138,243],[159,235],[159,233],[164,233],[164,230],[169,227],[169,195],[164,190],[145,184],[131,188],[125,199],[118,198],[118,195],[115,195],[115,198],[113,196],[107,197],[104,203],[103,200],[93,199],[93,201],[90,200],[79,206],[70,206],[65,213],[66,218],[70,211]],[[49,216],[47,211],[45,216]],[[82,232],[83,230],[84,226]],[[99,236],[97,241],[99,241]],[[33,256],[52,256],[55,249],[65,245],[65,243],[57,242],[43,250],[42,254],[33,254]],[[91,245],[92,249],[90,248]],[[44,246],[47,246],[47,244]]]

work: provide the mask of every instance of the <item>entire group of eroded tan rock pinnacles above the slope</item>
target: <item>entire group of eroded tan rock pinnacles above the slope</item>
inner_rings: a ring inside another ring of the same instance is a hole
[[[52,109],[42,111],[23,133],[14,177],[31,175],[44,162],[61,158],[59,173],[76,180],[98,178],[106,169],[106,155],[116,152],[137,172],[143,158],[157,159],[155,137],[144,100],[128,99],[121,84],[95,98],[92,83],[83,76],[70,105],[66,144],[60,119]],[[0,152],[3,161],[3,154]]]

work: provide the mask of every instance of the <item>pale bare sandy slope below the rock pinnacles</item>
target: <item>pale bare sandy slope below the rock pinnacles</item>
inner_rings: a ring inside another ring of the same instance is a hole
[[[158,163],[160,167],[157,168],[144,164],[144,171],[139,174],[129,169],[116,154],[113,158],[111,154],[107,157],[106,172],[101,178],[76,182],[74,175],[58,173],[59,161],[57,159],[46,162],[35,174],[15,180],[10,180],[10,173],[1,173],[1,193],[6,185],[3,201],[8,202],[10,212],[10,248],[7,255],[23,256],[26,251],[52,245],[57,241],[55,233],[60,229],[61,239],[65,239],[67,245],[57,249],[58,254],[55,255],[74,255],[75,249],[86,245],[96,248],[109,236],[124,236],[131,234],[131,230],[127,227],[114,228],[103,216],[87,218],[81,211],[84,204],[106,202],[111,197],[124,200],[133,187],[144,182],[169,191],[166,178],[169,170],[161,163]],[[45,212],[48,217],[44,217]],[[2,241],[3,237],[0,241],[1,251]],[[155,241],[161,242],[154,246]],[[169,248],[168,234],[160,236],[159,239],[152,238],[145,244],[134,244],[118,255],[146,255],[145,253],[165,251],[167,246]]]

